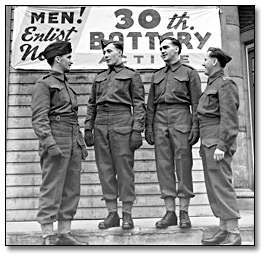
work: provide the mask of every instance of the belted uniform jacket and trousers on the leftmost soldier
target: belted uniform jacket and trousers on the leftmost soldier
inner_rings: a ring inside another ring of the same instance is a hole
[[[77,210],[81,159],[86,156],[77,112],[76,92],[63,74],[51,71],[37,81],[32,95],[32,123],[39,138],[42,169],[37,215],[40,224],[71,220]],[[52,145],[59,146],[61,159],[50,157]]]

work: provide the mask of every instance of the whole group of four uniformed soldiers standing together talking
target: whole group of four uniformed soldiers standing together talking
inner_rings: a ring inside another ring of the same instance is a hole
[[[236,150],[239,98],[236,84],[223,71],[231,58],[221,49],[209,48],[203,64],[209,80],[201,95],[197,71],[179,60],[180,42],[173,37],[161,38],[166,66],[153,74],[146,111],[141,77],[123,65],[123,44],[104,40],[101,45],[108,69],[94,79],[84,137],[87,146],[94,145],[102,199],[108,210],[98,227],[120,226],[118,197],[122,201],[122,228],[134,227],[134,152],[142,145],[145,124],[145,139],[155,145],[158,181],[166,207],[156,227],[177,225],[176,197],[180,227],[191,227],[192,145],[201,137],[207,195],[214,215],[220,218],[219,232],[202,243],[240,245],[240,215],[230,166]],[[71,44],[63,41],[44,50],[51,71],[37,81],[32,97],[32,123],[40,140],[43,173],[37,220],[44,245],[87,245],[70,233],[80,197],[81,159],[87,156],[78,125],[76,92],[65,76],[72,64],[71,52]],[[55,221],[58,237],[53,232]]]

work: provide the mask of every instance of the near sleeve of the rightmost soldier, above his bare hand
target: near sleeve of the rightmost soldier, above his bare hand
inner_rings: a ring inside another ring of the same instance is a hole
[[[227,80],[218,91],[220,105],[220,128],[217,148],[226,152],[238,134],[239,93],[238,87]]]

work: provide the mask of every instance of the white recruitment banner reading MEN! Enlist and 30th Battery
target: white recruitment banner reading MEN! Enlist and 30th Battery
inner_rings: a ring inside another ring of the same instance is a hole
[[[164,66],[159,36],[182,43],[181,60],[202,68],[210,46],[221,47],[215,6],[18,6],[14,11],[11,65],[50,67],[40,53],[55,40],[72,43],[71,69],[103,69],[101,39],[121,40],[124,60],[134,69]]]

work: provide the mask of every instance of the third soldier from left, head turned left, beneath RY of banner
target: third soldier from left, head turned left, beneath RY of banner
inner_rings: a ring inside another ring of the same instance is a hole
[[[145,139],[155,145],[158,181],[166,207],[166,214],[156,227],[177,225],[175,198],[178,197],[180,227],[189,228],[188,209],[190,198],[194,197],[192,145],[199,139],[196,112],[201,80],[194,68],[181,63],[181,43],[177,39],[162,37],[160,51],[166,66],[152,77],[145,125]]]

